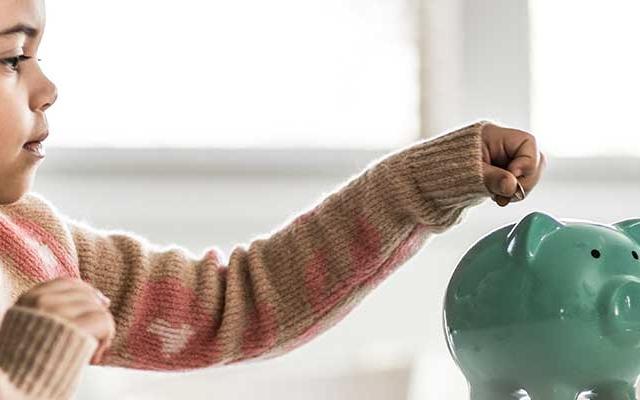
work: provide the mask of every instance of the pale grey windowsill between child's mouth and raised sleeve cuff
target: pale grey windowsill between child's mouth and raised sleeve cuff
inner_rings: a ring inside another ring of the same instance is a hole
[[[48,147],[39,173],[332,176],[396,150]]]

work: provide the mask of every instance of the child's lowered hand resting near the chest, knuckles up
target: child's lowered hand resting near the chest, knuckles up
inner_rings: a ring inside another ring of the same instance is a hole
[[[78,278],[59,278],[41,283],[22,294],[16,305],[54,314],[75,324],[100,343],[91,364],[97,364],[115,335],[109,312],[110,300]]]

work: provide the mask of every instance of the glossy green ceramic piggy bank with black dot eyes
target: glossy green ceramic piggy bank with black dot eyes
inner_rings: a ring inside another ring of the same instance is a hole
[[[471,399],[636,399],[639,254],[640,219],[534,212],[481,238],[444,301]]]

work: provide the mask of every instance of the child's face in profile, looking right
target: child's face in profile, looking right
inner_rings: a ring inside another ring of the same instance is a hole
[[[29,191],[42,160],[23,146],[48,132],[57,97],[37,61],[44,25],[44,0],[0,0],[0,205]]]

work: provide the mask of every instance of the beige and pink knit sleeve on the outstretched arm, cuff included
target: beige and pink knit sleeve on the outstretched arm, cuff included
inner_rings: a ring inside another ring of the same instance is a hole
[[[488,196],[481,128],[391,153],[228,263],[63,216],[82,279],[111,302],[105,365],[187,370],[272,358],[329,329]]]

